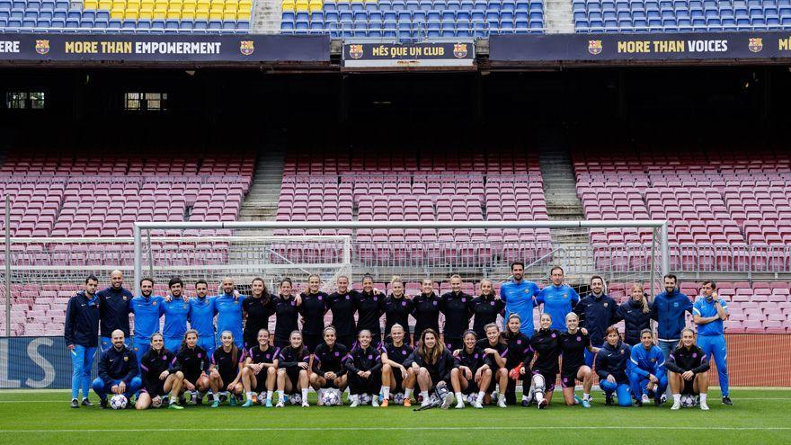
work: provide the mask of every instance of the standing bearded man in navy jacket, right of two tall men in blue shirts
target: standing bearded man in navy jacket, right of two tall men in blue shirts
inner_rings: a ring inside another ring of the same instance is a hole
[[[591,277],[591,294],[585,296],[574,307],[580,317],[580,327],[588,330],[591,346],[600,348],[604,344],[604,332],[615,323],[618,303],[604,293],[604,279],[599,275]],[[565,319],[565,317],[564,317]],[[593,367],[593,352],[585,349],[585,364]]]

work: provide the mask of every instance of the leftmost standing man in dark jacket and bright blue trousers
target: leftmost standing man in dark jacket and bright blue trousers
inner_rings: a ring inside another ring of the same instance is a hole
[[[77,397],[83,389],[84,406],[93,405],[88,400],[91,385],[93,356],[99,346],[99,298],[96,289],[99,280],[93,275],[85,279],[85,289],[69,298],[63,336],[71,352],[71,407],[79,408]]]

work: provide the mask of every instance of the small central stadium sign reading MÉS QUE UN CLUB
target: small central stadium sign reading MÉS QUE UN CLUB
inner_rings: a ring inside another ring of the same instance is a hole
[[[472,42],[346,43],[344,67],[472,67]]]

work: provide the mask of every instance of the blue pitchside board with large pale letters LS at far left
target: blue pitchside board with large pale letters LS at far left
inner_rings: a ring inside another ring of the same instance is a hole
[[[0,338],[0,389],[69,388],[71,374],[63,337]]]

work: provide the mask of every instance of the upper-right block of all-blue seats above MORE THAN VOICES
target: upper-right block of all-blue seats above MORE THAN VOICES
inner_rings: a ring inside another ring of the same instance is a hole
[[[778,31],[789,0],[571,0],[577,32]]]

